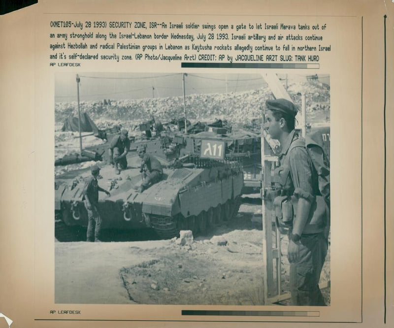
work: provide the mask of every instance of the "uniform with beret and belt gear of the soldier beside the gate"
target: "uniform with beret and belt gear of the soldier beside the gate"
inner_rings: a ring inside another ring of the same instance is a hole
[[[286,107],[288,103],[283,100],[267,101],[268,109],[276,110],[280,105],[283,112],[288,111],[295,116],[296,113],[292,113],[295,107],[288,109]],[[291,102],[289,103],[294,106]],[[305,198],[311,203],[309,217],[302,234],[296,235],[295,238],[299,245],[297,262],[290,264],[292,304],[326,305],[318,284],[328,249],[326,234],[329,218],[328,206],[321,197],[319,177],[305,147],[305,139],[293,130],[281,147],[280,166],[275,170],[274,181],[280,184],[282,199],[287,196],[289,201],[291,200],[293,225],[296,220],[299,220],[296,217],[298,199]],[[322,165],[324,166],[323,163]],[[293,238],[292,224],[290,223],[290,226],[283,222],[281,224],[287,226],[289,237]]]

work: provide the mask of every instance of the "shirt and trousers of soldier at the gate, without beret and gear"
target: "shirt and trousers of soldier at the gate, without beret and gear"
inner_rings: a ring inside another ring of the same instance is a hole
[[[291,147],[294,143],[300,146]],[[282,146],[277,172],[280,175],[279,179],[284,181],[284,194],[293,195],[296,201],[299,197],[306,198],[312,203],[313,208],[316,195],[320,194],[318,178],[305,147],[301,146],[302,143],[305,144],[305,140],[293,130]],[[322,204],[324,206],[324,203]],[[318,284],[327,255],[328,242],[324,233],[326,225],[327,222],[324,220],[309,221],[302,231],[298,262],[290,264],[293,305],[325,305]]]

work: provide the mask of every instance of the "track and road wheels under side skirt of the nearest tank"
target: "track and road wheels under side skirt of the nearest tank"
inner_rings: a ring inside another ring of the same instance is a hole
[[[180,230],[192,230],[193,235],[206,235],[210,228],[222,221],[233,219],[238,213],[241,197],[229,199],[208,211],[202,211],[197,216],[184,218],[181,214],[173,217],[150,215],[152,228],[163,239],[179,236]]]

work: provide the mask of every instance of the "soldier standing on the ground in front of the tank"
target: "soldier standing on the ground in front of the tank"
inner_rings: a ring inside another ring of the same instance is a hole
[[[100,169],[97,165],[92,167],[92,176],[85,183],[82,191],[82,200],[88,211],[88,230],[86,233],[86,241],[100,241],[101,217],[98,210],[99,191],[110,196],[109,192],[99,187],[97,177]]]

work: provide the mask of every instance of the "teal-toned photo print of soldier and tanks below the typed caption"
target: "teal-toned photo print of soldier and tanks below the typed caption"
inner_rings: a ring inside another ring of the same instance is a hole
[[[330,306],[330,76],[58,72],[54,302]]]

